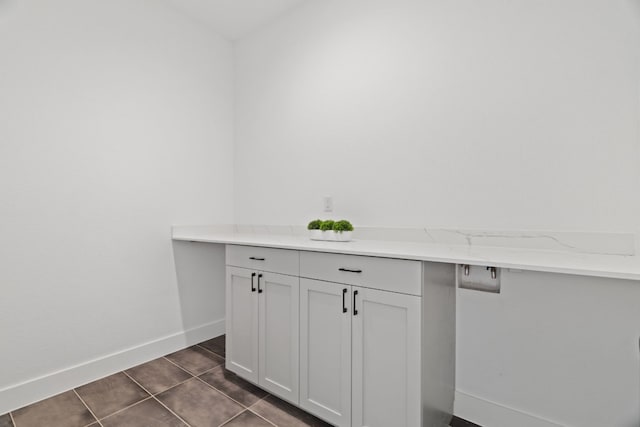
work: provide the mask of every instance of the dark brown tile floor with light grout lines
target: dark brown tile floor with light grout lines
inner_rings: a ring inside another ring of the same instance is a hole
[[[325,427],[224,369],[224,335],[0,415],[0,427]],[[467,427],[475,424],[456,423]]]

